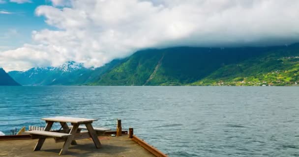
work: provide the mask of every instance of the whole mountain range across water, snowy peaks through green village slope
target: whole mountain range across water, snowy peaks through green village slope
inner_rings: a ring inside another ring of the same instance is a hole
[[[297,85],[299,44],[149,49],[95,69],[70,61],[9,75],[22,85]]]

